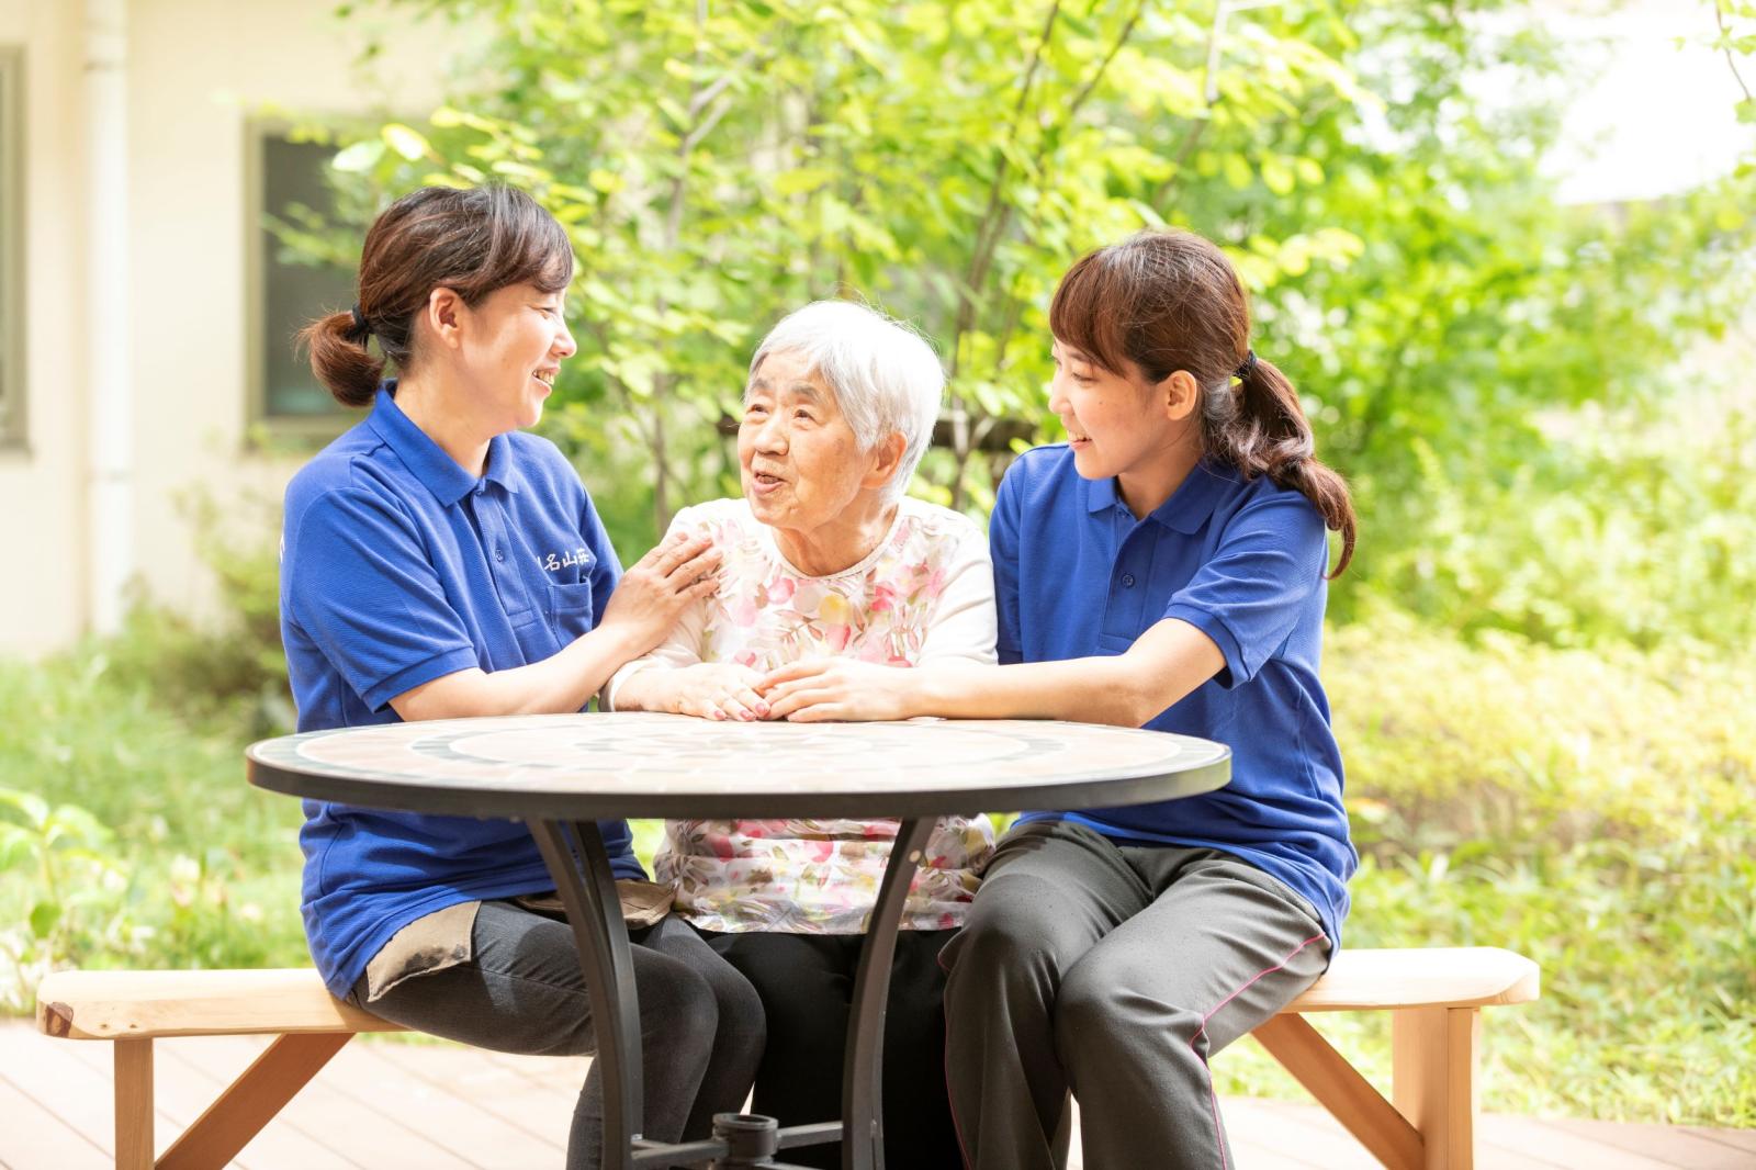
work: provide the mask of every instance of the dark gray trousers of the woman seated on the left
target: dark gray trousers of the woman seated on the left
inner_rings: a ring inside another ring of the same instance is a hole
[[[762,1001],[730,963],[676,917],[630,931],[641,1000],[644,1137],[708,1137],[713,1114],[739,1112],[762,1059]],[[592,1052],[592,1007],[565,922],[485,901],[474,956],[416,975],[365,1005],[406,1028],[497,1052]],[[365,1000],[365,977],[355,986]],[[604,1096],[597,1063],[567,1137],[569,1170],[602,1165]]]

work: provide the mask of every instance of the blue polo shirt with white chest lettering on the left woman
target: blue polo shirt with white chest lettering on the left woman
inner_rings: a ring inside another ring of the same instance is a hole
[[[553,443],[497,436],[478,480],[393,394],[286,487],[281,639],[300,731],[397,722],[390,699],[423,682],[539,662],[597,624],[622,576]],[[616,877],[644,877],[627,822],[601,829]],[[306,801],[299,843],[311,957],[337,996],[414,919],[553,887],[511,820]]]

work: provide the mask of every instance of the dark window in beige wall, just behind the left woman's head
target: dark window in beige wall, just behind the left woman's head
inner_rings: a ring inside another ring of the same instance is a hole
[[[311,318],[353,304],[355,265],[337,262],[327,242],[337,223],[327,177],[335,148],[276,126],[256,126],[253,137],[255,416],[276,429],[334,432],[344,415],[293,337]]]

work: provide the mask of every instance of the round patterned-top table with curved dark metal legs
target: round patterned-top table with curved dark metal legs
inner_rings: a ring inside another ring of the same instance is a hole
[[[256,787],[367,808],[513,817],[530,826],[579,947],[604,1080],[604,1166],[774,1166],[781,1147],[839,1138],[843,1166],[882,1170],[880,1068],[890,959],[938,817],[1105,808],[1222,787],[1231,752],[1159,731],[1036,720],[711,722],[683,715],[516,715],[341,727],[246,752]],[[639,1008],[599,819],[899,819],[853,984],[841,1123],[778,1128],[722,1116],[715,1137],[639,1137]]]

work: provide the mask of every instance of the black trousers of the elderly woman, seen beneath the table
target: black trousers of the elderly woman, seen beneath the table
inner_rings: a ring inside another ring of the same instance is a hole
[[[885,1165],[962,1170],[945,1089],[945,971],[939,950],[957,931],[901,931],[883,1033]],[[781,1126],[841,1117],[841,1070],[864,935],[701,931],[750,980],[767,1015],[755,1112]],[[783,1149],[780,1161],[841,1166],[841,1144]]]

